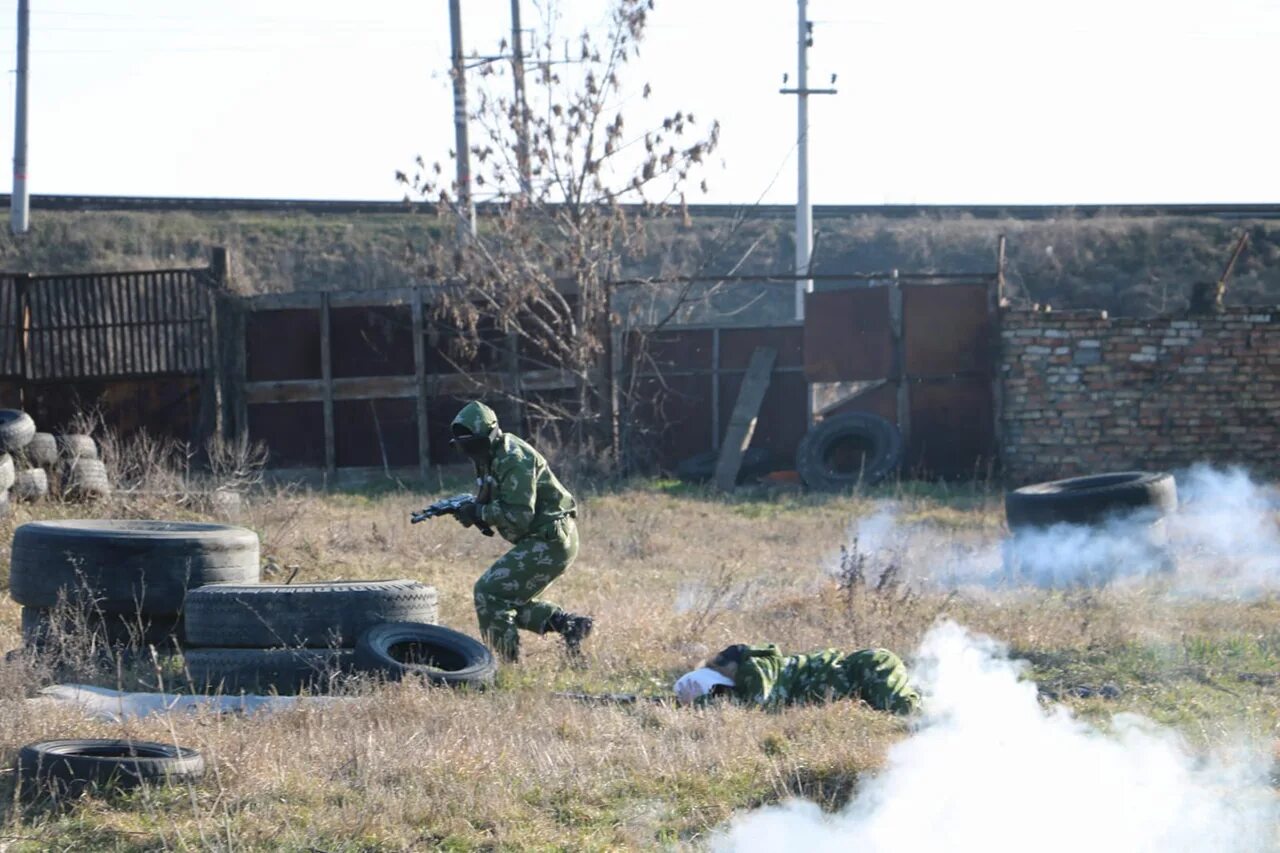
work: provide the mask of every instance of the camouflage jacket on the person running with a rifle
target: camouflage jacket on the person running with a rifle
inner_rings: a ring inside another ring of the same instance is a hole
[[[486,465],[476,466],[480,519],[507,542],[550,526],[576,510],[573,496],[529,442],[503,433]]]

